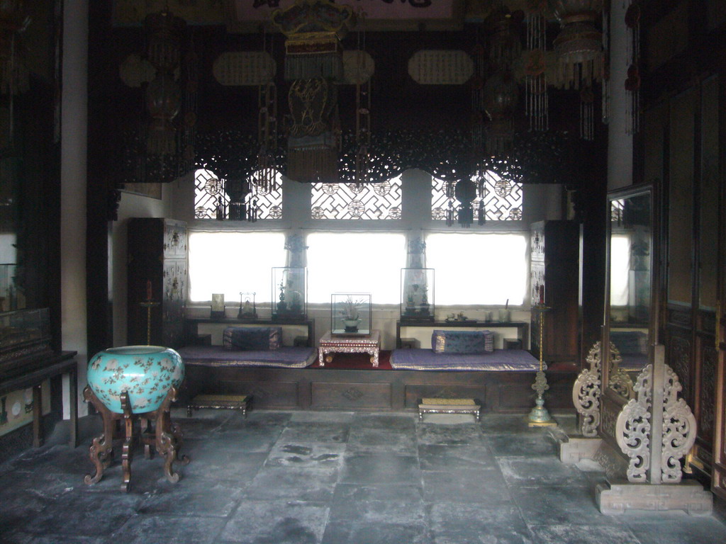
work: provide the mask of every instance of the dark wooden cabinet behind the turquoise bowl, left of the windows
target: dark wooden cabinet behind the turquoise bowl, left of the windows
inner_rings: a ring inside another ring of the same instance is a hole
[[[129,220],[130,345],[179,347],[187,301],[187,223]]]

